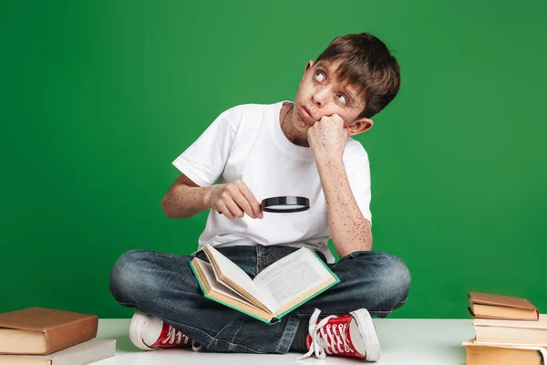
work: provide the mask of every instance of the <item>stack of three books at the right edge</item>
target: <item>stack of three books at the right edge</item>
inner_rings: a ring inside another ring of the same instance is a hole
[[[547,315],[525,298],[470,292],[475,338],[463,342],[468,365],[542,365]]]

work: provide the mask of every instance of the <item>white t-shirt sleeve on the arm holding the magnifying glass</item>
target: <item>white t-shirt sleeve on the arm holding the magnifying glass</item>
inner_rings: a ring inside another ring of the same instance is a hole
[[[235,130],[232,110],[223,111],[172,164],[200,186],[212,185],[228,161]]]

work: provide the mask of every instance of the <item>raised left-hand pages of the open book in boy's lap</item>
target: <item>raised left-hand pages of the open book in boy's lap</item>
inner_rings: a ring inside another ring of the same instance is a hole
[[[229,287],[233,287],[240,292],[239,294],[247,296],[257,306],[264,307],[261,293],[254,286],[253,279],[240,266],[235,265],[228,257],[222,255],[217,249],[212,247],[212,245],[205,245],[204,251],[214,268],[220,273],[222,279],[229,281],[227,283]]]

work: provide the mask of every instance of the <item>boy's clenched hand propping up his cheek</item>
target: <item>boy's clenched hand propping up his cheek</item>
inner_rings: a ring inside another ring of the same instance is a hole
[[[338,114],[322,117],[307,130],[308,143],[316,162],[342,161],[349,135],[344,120]]]

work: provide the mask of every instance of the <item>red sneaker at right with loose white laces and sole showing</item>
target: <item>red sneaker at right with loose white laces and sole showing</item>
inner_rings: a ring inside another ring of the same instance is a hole
[[[321,310],[315,309],[310,318],[306,339],[308,352],[296,360],[311,356],[325,359],[326,354],[351,356],[366,361],[380,359],[380,342],[376,327],[365,308],[344,317],[328,316],[318,320]]]

